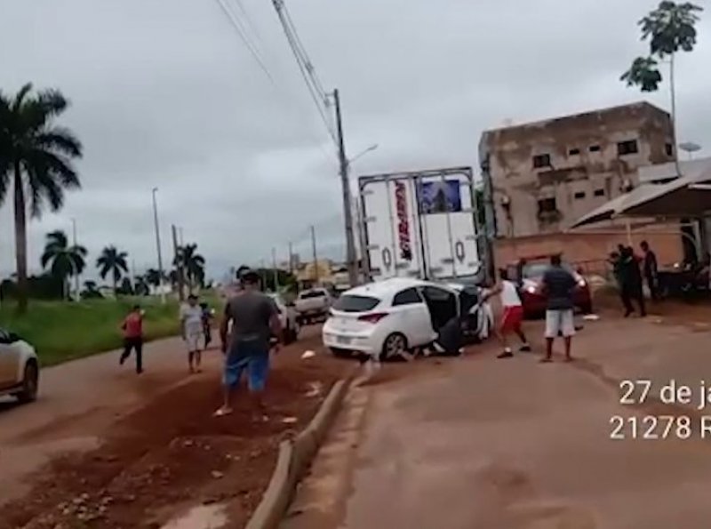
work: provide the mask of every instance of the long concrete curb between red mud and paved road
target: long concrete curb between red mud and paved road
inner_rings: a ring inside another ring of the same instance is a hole
[[[337,381],[318,412],[294,440],[279,445],[276,468],[259,506],[245,529],[276,529],[289,508],[296,487],[311,465],[348,393],[351,379]]]

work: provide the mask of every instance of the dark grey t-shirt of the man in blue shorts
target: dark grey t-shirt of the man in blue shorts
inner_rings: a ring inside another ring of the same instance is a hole
[[[232,348],[249,346],[249,350],[268,352],[271,318],[278,313],[275,302],[260,292],[246,291],[231,298],[225,306],[225,317],[232,322]]]

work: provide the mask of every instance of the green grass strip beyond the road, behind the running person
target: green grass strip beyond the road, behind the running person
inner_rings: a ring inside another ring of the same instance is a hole
[[[210,297],[206,301],[216,307]],[[178,301],[169,300],[163,305],[154,298],[32,301],[23,316],[15,313],[14,305],[4,303],[0,326],[34,345],[42,365],[56,365],[120,348],[121,323],[137,302],[146,311],[143,330],[147,341],[180,333]]]

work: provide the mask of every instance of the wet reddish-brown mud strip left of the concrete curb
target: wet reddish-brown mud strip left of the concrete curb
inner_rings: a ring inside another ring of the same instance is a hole
[[[226,506],[226,526],[243,527],[268,485],[280,441],[304,428],[332,383],[354,368],[326,354],[302,360],[317,341],[312,336],[277,357],[268,421],[255,420],[239,398],[233,415],[212,417],[221,394],[211,370],[118,419],[98,448],[53,458],[30,477],[28,494],[3,506],[0,529],[157,529],[212,504]]]

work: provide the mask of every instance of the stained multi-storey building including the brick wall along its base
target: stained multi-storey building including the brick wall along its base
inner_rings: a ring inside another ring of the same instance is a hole
[[[568,231],[587,212],[639,185],[641,168],[672,162],[672,138],[669,114],[646,102],[483,132],[479,158],[491,188],[496,262],[563,252],[597,272],[617,244],[637,246],[643,239],[660,262],[678,260],[678,226],[635,221],[633,237],[614,221]]]

